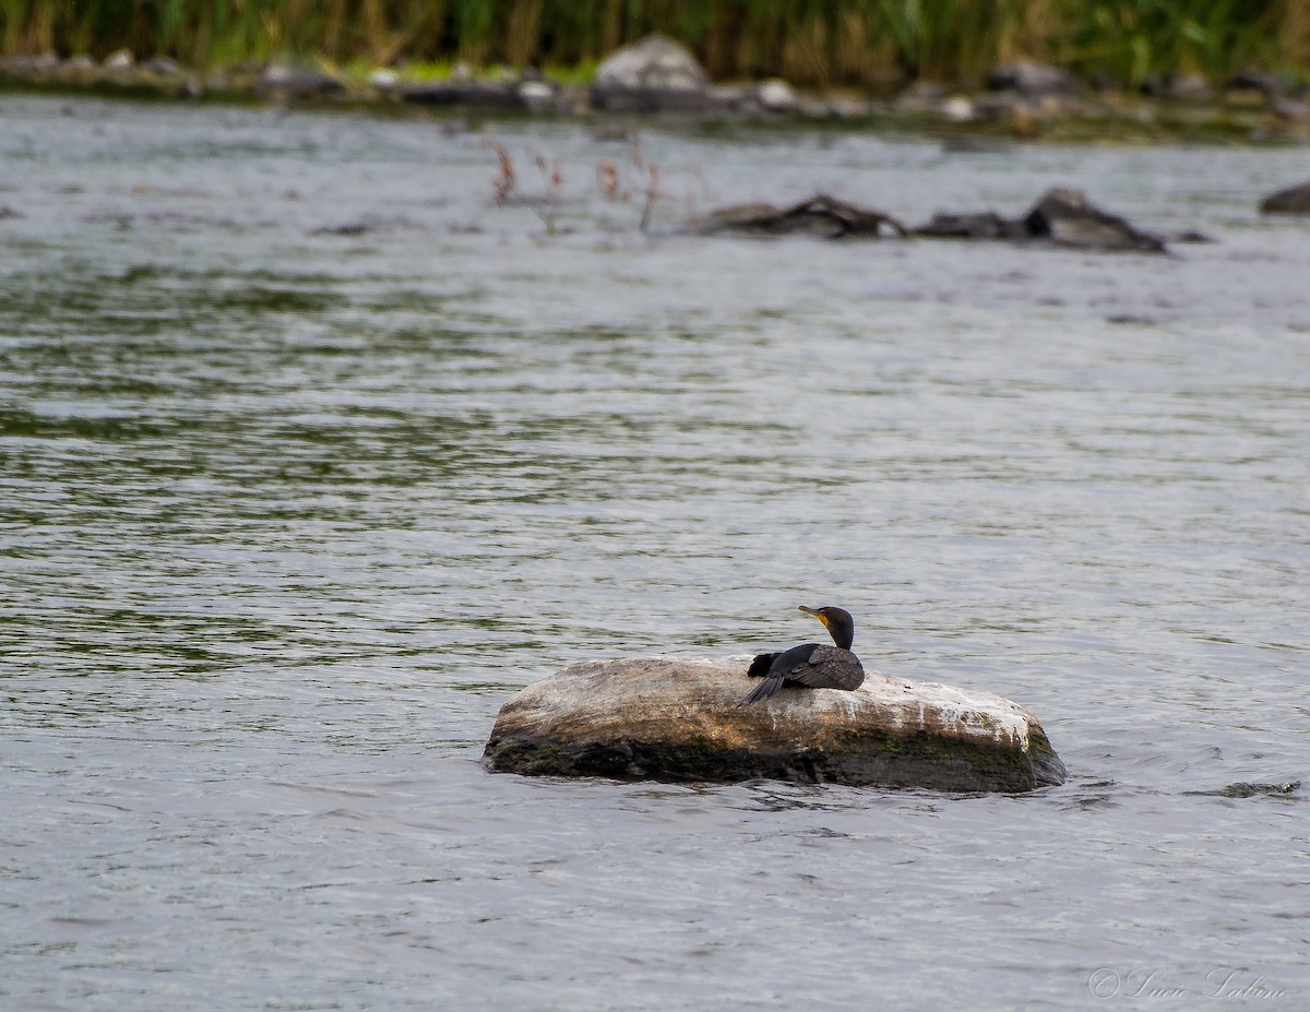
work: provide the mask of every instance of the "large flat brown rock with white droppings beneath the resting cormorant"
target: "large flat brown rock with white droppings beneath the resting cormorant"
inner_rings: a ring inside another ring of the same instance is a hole
[[[1064,783],[1038,718],[990,692],[869,671],[853,692],[783,688],[741,705],[751,658],[587,661],[500,708],[485,759],[502,772],[939,790]]]

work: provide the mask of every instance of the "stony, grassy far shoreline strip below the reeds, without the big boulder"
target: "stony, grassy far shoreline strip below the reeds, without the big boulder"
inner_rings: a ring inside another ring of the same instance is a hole
[[[576,80],[575,75],[570,75]],[[406,76],[394,69],[346,72],[310,64],[198,71],[173,60],[136,63],[119,52],[102,63],[55,56],[0,59],[0,94],[37,93],[131,101],[216,102],[339,109],[438,118],[693,123],[705,126],[849,126],[943,138],[1066,143],[1310,144],[1310,104],[1262,83],[1226,89],[1193,83],[1184,94],[1129,94],[1079,85],[1056,93],[959,92],[912,84],[891,98],[854,92],[800,93],[783,81],[713,84],[696,107],[597,107],[590,85],[540,72]]]

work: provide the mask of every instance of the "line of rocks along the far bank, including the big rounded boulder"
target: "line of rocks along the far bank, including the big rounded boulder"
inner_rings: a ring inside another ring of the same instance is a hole
[[[588,113],[681,115],[745,115],[867,118],[907,114],[941,123],[1000,123],[1024,136],[1043,125],[1069,118],[1146,117],[1150,107],[1116,109],[1091,94],[1068,71],[1031,60],[994,67],[986,89],[960,94],[931,81],[910,85],[889,105],[862,98],[816,98],[799,94],[781,80],[748,85],[715,85],[692,52],[662,35],[624,46],[605,59],[590,88],[566,87],[534,71],[479,79],[457,67],[447,80],[406,80],[394,69],[375,71],[365,81],[346,80],[312,64],[274,63],[232,67],[202,76],[166,58],[138,63],[126,50],[97,63],[89,56],[60,60],[54,55],[0,59],[0,80],[37,85],[101,87],[176,96],[254,94],[269,101],[396,100],[490,113],[536,111],[561,115]],[[1214,102],[1217,92],[1195,75],[1149,77],[1141,93],[1157,102]],[[1289,83],[1262,72],[1239,75],[1222,94],[1246,93],[1263,104],[1264,115],[1285,128],[1310,127],[1310,102]],[[1226,115],[1226,113],[1225,113]],[[1254,125],[1258,121],[1251,121]],[[1252,126],[1252,128],[1255,128]]]

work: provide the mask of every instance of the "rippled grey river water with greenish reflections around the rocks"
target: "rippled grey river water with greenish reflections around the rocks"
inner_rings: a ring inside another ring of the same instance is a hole
[[[1218,241],[646,236],[638,159],[660,227],[1072,185]],[[1310,1007],[1310,223],[1255,212],[1307,166],[0,97],[0,1007]],[[802,603],[1069,783],[479,764]]]

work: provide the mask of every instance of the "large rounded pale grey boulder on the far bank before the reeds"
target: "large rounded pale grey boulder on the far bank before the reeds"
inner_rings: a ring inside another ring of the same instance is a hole
[[[685,46],[648,35],[596,68],[592,105],[607,113],[697,113],[709,105],[710,79]]]

